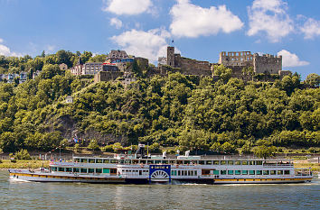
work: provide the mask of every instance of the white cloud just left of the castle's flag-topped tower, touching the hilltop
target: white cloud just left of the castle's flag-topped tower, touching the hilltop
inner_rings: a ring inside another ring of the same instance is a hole
[[[155,62],[158,57],[166,56],[165,39],[169,37],[170,33],[165,29],[153,29],[147,32],[132,29],[118,36],[113,36],[111,40],[115,41],[127,53]]]

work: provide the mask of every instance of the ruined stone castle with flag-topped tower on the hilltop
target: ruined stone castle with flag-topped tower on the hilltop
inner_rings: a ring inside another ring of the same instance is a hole
[[[291,72],[282,70],[282,56],[270,54],[252,54],[250,51],[221,51],[218,63],[210,63],[196,59],[187,59],[178,53],[174,53],[174,47],[167,47],[167,56],[158,59],[160,74],[168,71],[180,72],[184,75],[210,76],[214,75],[214,66],[223,65],[232,69],[232,78],[241,78],[245,81],[253,79],[255,75],[265,75],[265,80],[273,81],[275,78],[283,78]],[[272,76],[273,77],[269,77]]]

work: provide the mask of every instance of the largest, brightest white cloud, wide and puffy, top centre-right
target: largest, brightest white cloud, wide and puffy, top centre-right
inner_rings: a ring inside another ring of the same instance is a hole
[[[243,23],[237,15],[229,11],[225,5],[202,8],[193,5],[189,0],[177,0],[170,11],[173,22],[171,32],[178,37],[198,37],[215,35],[218,32],[240,30]]]

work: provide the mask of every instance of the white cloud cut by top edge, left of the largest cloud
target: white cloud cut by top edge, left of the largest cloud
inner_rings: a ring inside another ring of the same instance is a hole
[[[151,0],[108,0],[102,11],[113,14],[142,14],[151,11]]]

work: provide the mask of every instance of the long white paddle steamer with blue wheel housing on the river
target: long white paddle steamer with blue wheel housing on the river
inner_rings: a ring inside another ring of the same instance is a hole
[[[303,183],[312,180],[310,169],[294,169],[291,160],[207,159],[184,156],[168,159],[143,155],[139,145],[134,155],[117,154],[113,158],[73,157],[71,162],[52,161],[50,169],[33,171],[9,169],[10,178],[38,182],[87,183],[198,183],[265,184]]]

